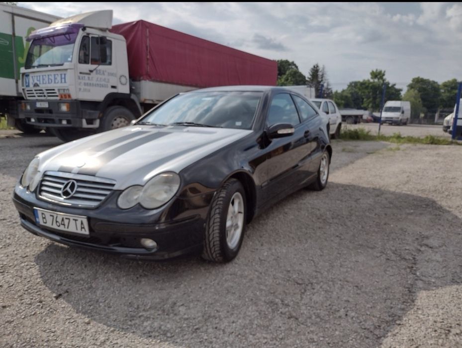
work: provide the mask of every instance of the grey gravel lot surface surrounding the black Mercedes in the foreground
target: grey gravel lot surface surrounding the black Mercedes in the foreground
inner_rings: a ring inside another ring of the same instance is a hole
[[[58,143],[0,139],[0,346],[461,346],[462,147],[334,141],[327,188],[265,212],[216,265],[22,230],[15,182]]]

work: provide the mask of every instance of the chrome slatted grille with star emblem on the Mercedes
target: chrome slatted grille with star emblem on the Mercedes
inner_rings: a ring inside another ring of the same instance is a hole
[[[40,182],[39,197],[65,206],[94,208],[112,192],[115,183],[115,180],[91,175],[49,171]],[[66,184],[71,187],[63,193]]]

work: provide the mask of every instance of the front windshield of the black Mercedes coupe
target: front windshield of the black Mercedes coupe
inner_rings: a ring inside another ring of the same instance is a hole
[[[137,124],[184,125],[250,129],[262,92],[198,92],[167,101]]]

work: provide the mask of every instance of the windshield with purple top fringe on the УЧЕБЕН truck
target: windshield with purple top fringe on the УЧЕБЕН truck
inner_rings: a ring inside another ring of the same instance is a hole
[[[27,52],[26,69],[63,65],[72,62],[77,33],[34,39]]]

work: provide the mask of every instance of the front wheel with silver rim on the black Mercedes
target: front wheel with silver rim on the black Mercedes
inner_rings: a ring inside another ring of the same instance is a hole
[[[236,209],[233,209],[232,203]],[[236,211],[237,213],[234,215],[233,212]],[[232,224],[229,233],[226,231],[227,223]],[[241,248],[245,228],[245,191],[238,180],[229,179],[212,200],[205,227],[202,258],[213,262],[231,261]]]

